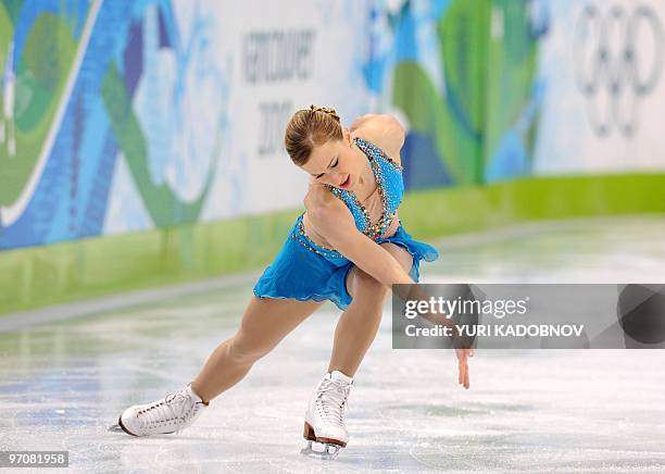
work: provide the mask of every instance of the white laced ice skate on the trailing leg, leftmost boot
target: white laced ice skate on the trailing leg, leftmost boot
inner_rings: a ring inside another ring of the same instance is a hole
[[[191,425],[208,407],[191,389],[191,384],[161,400],[135,404],[123,412],[110,429],[131,436],[150,436],[180,432]]]

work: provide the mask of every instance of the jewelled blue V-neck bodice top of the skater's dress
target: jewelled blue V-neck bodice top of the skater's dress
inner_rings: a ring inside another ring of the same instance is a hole
[[[404,196],[404,182],[402,179],[402,166],[392,161],[380,148],[363,138],[354,138],[353,141],[369,160],[374,172],[377,191],[381,202],[381,215],[376,222],[372,222],[371,212],[357,199],[353,191],[326,185],[330,192],[341,199],[351,211],[355,226],[366,236],[376,239],[384,235],[390,227],[396,216],[396,210],[402,202]]]

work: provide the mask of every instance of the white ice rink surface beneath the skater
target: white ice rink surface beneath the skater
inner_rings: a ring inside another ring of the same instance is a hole
[[[665,220],[520,226],[440,242],[426,282],[665,282]],[[0,334],[0,449],[68,450],[68,472],[663,472],[665,351],[392,350],[389,305],[337,460],[300,454],[339,312],[325,305],[178,436],[110,433],[191,381],[250,286]],[[28,472],[28,470],[16,470]]]

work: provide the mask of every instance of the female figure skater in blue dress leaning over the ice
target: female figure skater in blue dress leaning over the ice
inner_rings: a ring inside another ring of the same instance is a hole
[[[300,110],[285,136],[293,163],[310,175],[306,212],[265,270],[240,328],[210,356],[191,384],[152,403],[128,408],[118,426],[129,435],[181,431],[210,400],[238,382],[261,357],[330,300],[343,314],[335,330],[326,375],[305,412],[306,450],[324,444],[336,456],[349,440],[344,409],[353,376],[378,330],[393,284],[418,280],[421,260],[435,248],[411,238],[398,219],[404,185],[404,130],[389,115],[364,115],[343,128],[334,109]],[[459,383],[468,388],[467,357],[456,349]]]

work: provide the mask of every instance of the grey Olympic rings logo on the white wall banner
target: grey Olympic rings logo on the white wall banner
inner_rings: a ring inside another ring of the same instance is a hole
[[[630,13],[613,5],[606,14],[585,7],[575,27],[574,68],[598,136],[637,130],[638,102],[658,84],[664,46],[663,24],[648,5]]]

